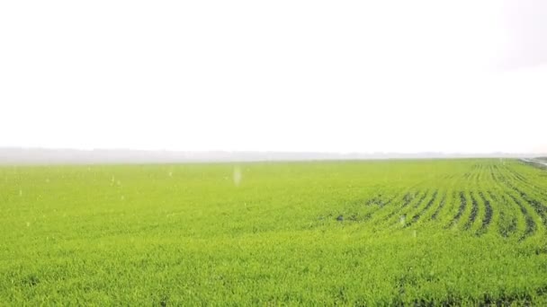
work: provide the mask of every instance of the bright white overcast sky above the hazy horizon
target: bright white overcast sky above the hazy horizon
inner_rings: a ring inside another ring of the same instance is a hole
[[[0,146],[547,152],[547,2],[3,1]]]

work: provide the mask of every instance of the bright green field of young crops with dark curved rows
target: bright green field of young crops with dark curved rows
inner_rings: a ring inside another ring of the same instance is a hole
[[[4,166],[0,212],[0,305],[547,304],[517,160]]]

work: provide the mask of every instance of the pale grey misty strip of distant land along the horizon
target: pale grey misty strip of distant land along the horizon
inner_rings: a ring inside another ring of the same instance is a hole
[[[547,156],[547,154],[545,155]],[[531,153],[282,153],[282,152],[175,152],[121,149],[0,148],[0,164],[63,163],[172,163],[172,162],[274,162],[318,160],[381,160],[437,158],[534,158]]]

